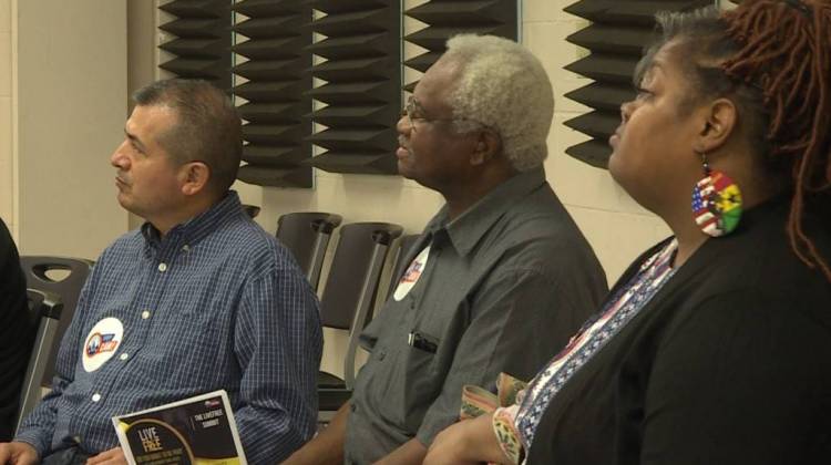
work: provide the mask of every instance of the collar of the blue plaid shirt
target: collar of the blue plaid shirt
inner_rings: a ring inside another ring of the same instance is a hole
[[[207,211],[204,211],[195,217],[188,219],[185,223],[178,224],[171,228],[171,230],[162,238],[158,229],[156,229],[148,221],[142,225],[142,236],[147,241],[147,245],[154,249],[161,249],[163,242],[175,240],[177,242],[186,244],[188,247],[193,247],[199,242],[205,236],[211,234],[213,230],[225,221],[229,217],[237,215],[245,215],[243,210],[243,204],[239,202],[239,196],[235,190],[228,190],[222,200],[214,204]]]

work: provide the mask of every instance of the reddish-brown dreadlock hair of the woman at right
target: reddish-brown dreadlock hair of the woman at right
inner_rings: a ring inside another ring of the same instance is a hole
[[[790,177],[787,230],[791,249],[831,281],[829,261],[804,230],[804,218],[831,204],[831,1],[745,0],[656,16],[663,37],[636,69],[639,82],[661,45],[676,40],[691,76],[681,108],[730,97],[752,149],[771,173]],[[824,218],[827,220],[827,218]]]

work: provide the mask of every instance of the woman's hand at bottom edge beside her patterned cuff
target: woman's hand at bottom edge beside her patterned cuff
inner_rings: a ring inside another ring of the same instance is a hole
[[[509,464],[493,433],[492,418],[493,415],[482,415],[450,425],[433,440],[424,465]]]

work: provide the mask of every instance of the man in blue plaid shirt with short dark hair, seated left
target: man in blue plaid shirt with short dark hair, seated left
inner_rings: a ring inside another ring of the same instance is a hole
[[[0,464],[125,463],[112,416],[218,389],[248,462],[279,462],[315,432],[316,297],[228,190],[242,155],[232,102],[186,80],[134,97],[111,163],[119,203],[146,223],[99,258],[52,391]]]

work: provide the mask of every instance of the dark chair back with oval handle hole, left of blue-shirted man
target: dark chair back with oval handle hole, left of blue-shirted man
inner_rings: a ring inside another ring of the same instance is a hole
[[[63,309],[58,316],[58,328],[54,338],[50,341],[51,347],[47,355],[47,365],[42,385],[50,385],[54,376],[54,361],[58,356],[58,348],[61,344],[63,333],[66,331],[72,316],[75,314],[78,298],[86,278],[92,270],[92,261],[81,258],[45,257],[45,256],[21,256],[20,265],[25,273],[27,287],[42,292],[51,292],[58,296],[63,303]],[[63,279],[52,278],[52,271],[66,273]]]

